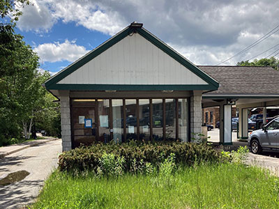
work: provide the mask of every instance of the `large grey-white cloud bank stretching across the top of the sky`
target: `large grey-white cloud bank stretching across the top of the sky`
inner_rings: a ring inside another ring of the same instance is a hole
[[[241,51],[273,29],[279,14],[276,0],[33,1],[37,6],[29,8],[29,14],[24,12],[21,29],[48,30],[61,20],[113,35],[130,22],[143,22],[151,33],[171,43],[193,63],[202,65],[219,63]],[[225,64],[249,59],[277,41],[278,35],[274,35]]]

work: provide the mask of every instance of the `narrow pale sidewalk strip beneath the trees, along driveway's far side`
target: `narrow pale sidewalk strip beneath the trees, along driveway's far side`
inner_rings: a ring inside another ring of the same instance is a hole
[[[27,141],[22,144],[13,144],[10,146],[1,146],[0,147],[0,158],[5,157],[6,155],[10,155],[12,153],[16,153],[20,150],[24,150],[25,148],[29,148],[31,146],[37,146],[38,144],[46,143],[47,141],[57,140],[58,138],[54,137],[45,137],[46,139],[38,139],[34,141]]]

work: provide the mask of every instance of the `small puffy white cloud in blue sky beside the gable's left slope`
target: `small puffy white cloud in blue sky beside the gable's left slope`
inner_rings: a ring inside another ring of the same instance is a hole
[[[83,46],[75,44],[75,41],[44,43],[34,48],[34,51],[38,53],[40,61],[56,62],[56,61],[70,61],[73,62],[79,59],[81,56],[89,52]]]

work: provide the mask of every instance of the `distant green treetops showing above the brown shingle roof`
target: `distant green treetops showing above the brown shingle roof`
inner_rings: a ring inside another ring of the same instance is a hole
[[[264,59],[255,59],[254,61],[241,61],[237,63],[239,66],[271,66],[272,68],[279,70],[279,59],[275,57],[264,58]]]

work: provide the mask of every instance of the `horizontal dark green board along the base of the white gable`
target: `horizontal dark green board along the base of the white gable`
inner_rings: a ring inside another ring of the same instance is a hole
[[[205,85],[121,85],[121,84],[52,84],[49,90],[73,90],[73,91],[191,91],[211,90],[214,86]]]

